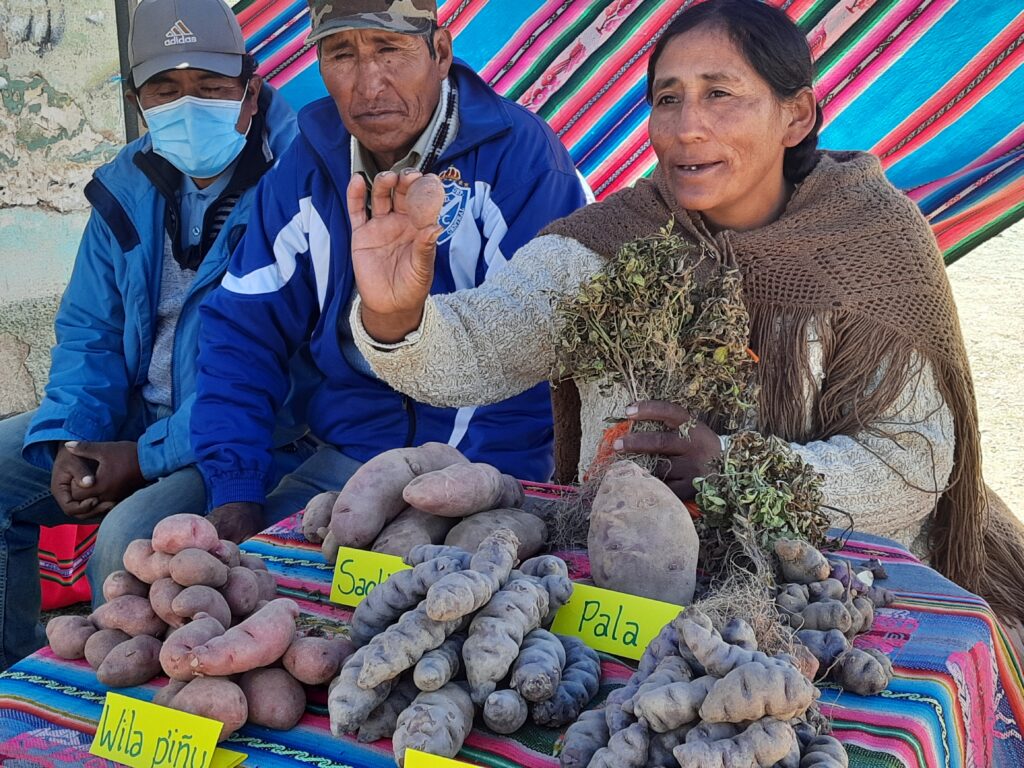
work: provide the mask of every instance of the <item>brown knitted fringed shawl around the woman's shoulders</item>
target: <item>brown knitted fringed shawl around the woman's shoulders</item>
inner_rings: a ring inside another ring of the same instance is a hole
[[[763,432],[809,442],[878,429],[878,417],[914,373],[913,353],[932,364],[956,430],[953,474],[935,511],[932,564],[997,610],[1021,616],[1024,551],[1013,537],[993,541],[987,525],[974,386],[942,257],[927,221],[886,179],[879,161],[822,153],[783,214],[752,231],[712,234],[699,216],[676,208],[655,173],[545,233],[610,258],[673,215],[677,229],[710,245],[742,274],[751,346],[761,358]],[[820,390],[808,386],[812,319],[823,351]],[[816,392],[810,425],[805,391]]]

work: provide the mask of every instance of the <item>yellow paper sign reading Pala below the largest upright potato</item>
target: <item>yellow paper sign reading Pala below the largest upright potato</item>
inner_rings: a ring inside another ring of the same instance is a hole
[[[646,597],[572,585],[572,597],[555,614],[552,632],[573,635],[594,650],[637,659],[682,608]]]

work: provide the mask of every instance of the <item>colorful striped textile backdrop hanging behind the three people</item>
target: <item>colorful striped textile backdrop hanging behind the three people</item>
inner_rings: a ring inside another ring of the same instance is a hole
[[[457,54],[544,117],[598,197],[650,173],[653,41],[695,0],[442,0]],[[1024,217],[1021,0],[768,0],[818,61],[825,147],[868,150],[952,262]],[[261,72],[301,105],[326,93],[305,0],[241,0]]]

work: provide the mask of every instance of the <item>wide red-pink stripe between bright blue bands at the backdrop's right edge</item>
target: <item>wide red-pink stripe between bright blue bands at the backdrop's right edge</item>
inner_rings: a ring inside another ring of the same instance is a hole
[[[887,167],[891,166],[910,155],[921,144],[927,143],[937,133],[969,112],[972,106],[978,103],[978,101],[984,98],[1009,76],[1013,75],[1021,63],[1024,62],[1024,46],[1012,49],[1022,34],[1024,34],[1024,12],[1015,19],[1014,24],[1004,30],[1000,35],[978,51],[957,73],[955,78],[946,83],[931,98],[890,131],[886,137],[876,143],[870,152],[881,157],[883,165]],[[1005,56],[997,66],[994,66],[995,60],[1007,50],[1011,50],[1011,53]],[[959,97],[978,78],[983,79],[971,89],[970,93]],[[956,100],[957,98],[958,100]],[[954,100],[955,103],[953,103]],[[946,109],[947,105],[948,109]],[[941,117],[936,117],[943,109],[946,109],[946,111],[942,113]],[[933,120],[934,122],[927,125],[927,127],[922,127],[929,120]],[[899,145],[905,136],[919,128],[921,129],[920,133],[911,140]]]

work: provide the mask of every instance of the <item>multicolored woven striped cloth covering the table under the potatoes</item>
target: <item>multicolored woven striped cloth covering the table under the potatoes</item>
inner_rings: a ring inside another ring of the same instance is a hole
[[[544,486],[529,493],[545,496]],[[351,611],[328,602],[332,568],[302,539],[291,517],[244,545],[264,559],[279,591],[302,607],[306,624],[339,627]],[[836,531],[838,532],[838,531]],[[589,575],[585,553],[559,553],[573,578]],[[878,611],[857,644],[893,660],[896,677],[878,696],[821,689],[821,709],[850,753],[853,768],[1020,768],[1024,765],[1024,670],[980,598],[924,566],[891,542],[853,536],[840,553],[852,561],[879,558],[897,601]],[[599,706],[632,670],[603,656]],[[163,681],[124,691],[150,699]],[[104,688],[85,662],[63,662],[44,649],[0,675],[0,765],[100,768],[87,755]],[[246,726],[225,745],[259,768],[384,768],[394,765],[390,742],[360,744],[330,733],[323,689],[291,731]],[[460,759],[495,768],[557,766],[561,733],[527,726],[514,737],[480,726]]]

